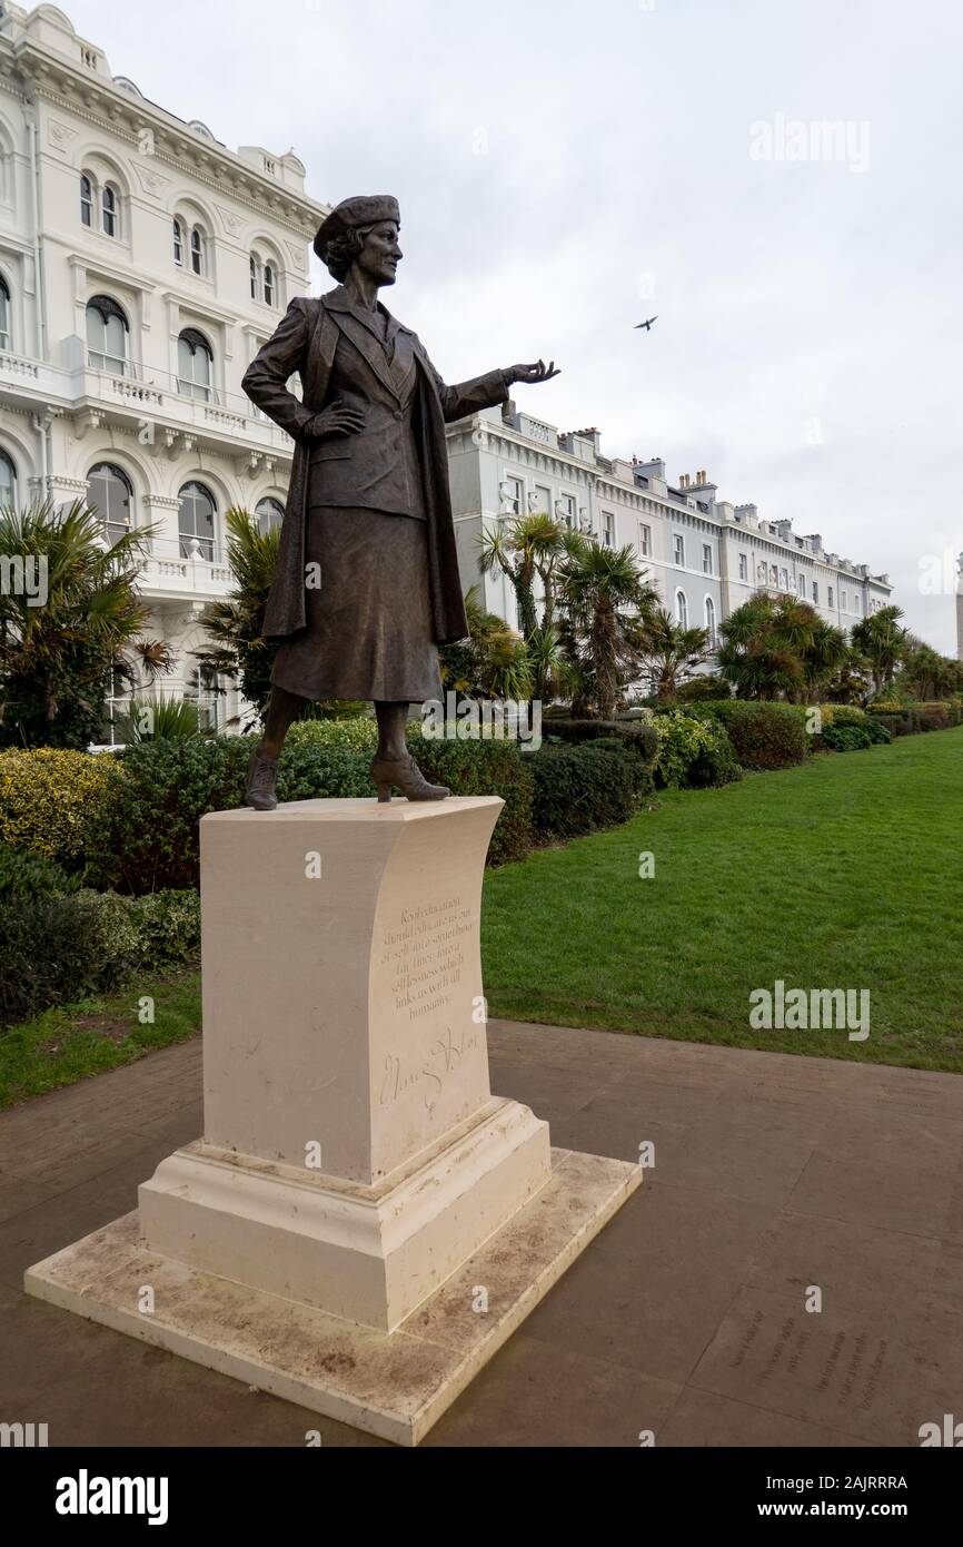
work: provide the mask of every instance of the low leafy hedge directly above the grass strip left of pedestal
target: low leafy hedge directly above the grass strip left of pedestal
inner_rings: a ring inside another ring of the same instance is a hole
[[[196,891],[8,894],[0,902],[0,1021],[116,989],[133,972],[196,954]]]

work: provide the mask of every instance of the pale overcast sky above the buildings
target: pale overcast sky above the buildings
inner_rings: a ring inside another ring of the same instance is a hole
[[[958,0],[65,9],[155,102],[294,147],[318,200],[397,195],[386,300],[448,381],[553,356],[521,407],[821,532],[955,654]]]

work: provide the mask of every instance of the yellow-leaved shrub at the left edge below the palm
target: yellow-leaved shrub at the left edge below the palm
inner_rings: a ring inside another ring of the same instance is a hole
[[[79,869],[122,784],[111,753],[0,752],[0,842]]]

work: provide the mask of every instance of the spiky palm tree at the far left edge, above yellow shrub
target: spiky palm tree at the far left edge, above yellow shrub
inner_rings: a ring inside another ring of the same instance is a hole
[[[130,681],[127,653],[150,616],[136,582],[151,532],[107,548],[97,509],[80,500],[0,512],[0,746],[83,749],[96,738],[111,679]],[[42,586],[17,583],[23,575]]]

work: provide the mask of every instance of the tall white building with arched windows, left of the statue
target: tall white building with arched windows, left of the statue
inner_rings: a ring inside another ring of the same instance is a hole
[[[195,651],[226,596],[224,517],[278,521],[294,442],[241,393],[328,206],[294,153],[227,150],[111,76],[54,6],[0,5],[0,504],[80,498],[155,528],[159,688],[236,719]]]

